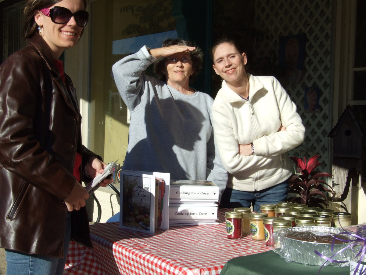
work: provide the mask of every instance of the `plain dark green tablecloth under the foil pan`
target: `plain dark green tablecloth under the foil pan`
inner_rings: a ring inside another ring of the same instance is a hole
[[[320,267],[289,263],[274,251],[232,258],[223,267],[220,275],[311,275],[318,274]],[[349,267],[325,266],[320,275],[350,274]]]

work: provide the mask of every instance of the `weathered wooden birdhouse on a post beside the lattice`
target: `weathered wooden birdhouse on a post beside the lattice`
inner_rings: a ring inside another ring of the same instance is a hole
[[[346,107],[328,137],[333,139],[333,188],[355,221],[359,212],[358,191],[362,187],[362,156],[366,152],[364,133],[351,106]],[[335,210],[344,212],[344,209]]]

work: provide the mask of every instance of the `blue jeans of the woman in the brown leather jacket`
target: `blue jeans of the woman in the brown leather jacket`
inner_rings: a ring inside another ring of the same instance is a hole
[[[50,232],[50,234],[52,234]],[[5,249],[7,275],[61,275],[64,273],[71,234],[71,213],[67,213],[64,258],[21,253]]]

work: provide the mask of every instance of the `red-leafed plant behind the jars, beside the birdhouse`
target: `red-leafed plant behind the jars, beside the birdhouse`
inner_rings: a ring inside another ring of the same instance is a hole
[[[335,191],[329,184],[319,178],[331,177],[332,175],[314,170],[320,165],[320,162],[317,161],[318,157],[320,155],[315,155],[309,158],[307,162],[306,158],[302,161],[300,158],[291,157],[300,175],[296,174],[290,177],[288,192],[296,194],[296,196],[288,198],[288,201],[306,204],[309,207],[324,208],[324,206],[329,206],[330,198],[328,198],[326,192],[329,192],[331,197],[334,198],[336,195]]]

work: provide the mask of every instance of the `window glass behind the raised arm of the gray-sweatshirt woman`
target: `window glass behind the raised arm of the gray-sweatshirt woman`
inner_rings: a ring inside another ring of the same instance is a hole
[[[143,45],[161,47],[165,38],[176,37],[176,20],[171,0],[97,0],[89,8],[89,148],[106,162],[119,159],[122,165],[129,124],[127,107],[111,76],[112,65]]]

